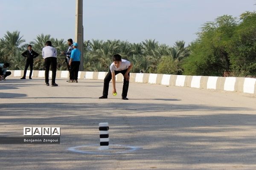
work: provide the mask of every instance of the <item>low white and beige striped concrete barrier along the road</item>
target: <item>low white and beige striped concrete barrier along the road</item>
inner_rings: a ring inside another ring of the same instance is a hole
[[[14,77],[22,77],[24,71],[11,70]],[[79,71],[79,79],[103,80],[108,72]],[[52,72],[49,71],[49,77]],[[27,71],[26,75],[29,75]],[[32,77],[44,77],[44,71],[33,71]],[[69,78],[68,71],[57,71],[56,78]],[[116,75],[117,81],[123,81],[122,74]],[[169,74],[130,73],[130,82],[171,85],[190,88],[238,91],[256,94],[256,79],[247,77],[185,76]]]

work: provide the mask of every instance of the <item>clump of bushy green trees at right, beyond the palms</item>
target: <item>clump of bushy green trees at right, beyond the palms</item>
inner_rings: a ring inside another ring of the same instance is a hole
[[[255,75],[256,14],[246,12],[240,19],[223,15],[207,22],[191,44],[183,62],[184,74],[222,76]]]

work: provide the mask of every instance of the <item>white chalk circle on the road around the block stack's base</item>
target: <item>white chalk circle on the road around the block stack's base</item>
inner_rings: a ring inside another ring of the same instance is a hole
[[[99,144],[89,144],[89,145],[69,147],[67,150],[70,150],[76,153],[108,155],[108,154],[130,153],[138,149],[141,149],[141,147],[125,146],[120,144],[110,144],[109,149],[100,149]]]

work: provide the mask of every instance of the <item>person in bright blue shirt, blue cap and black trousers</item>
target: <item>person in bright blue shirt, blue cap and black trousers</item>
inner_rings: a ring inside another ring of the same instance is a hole
[[[71,74],[70,77],[73,77],[73,79],[70,80],[69,82],[78,82],[77,78],[78,78],[81,52],[77,47],[78,47],[78,43],[74,42],[73,43],[74,49],[71,51],[70,62],[69,62],[70,74]]]

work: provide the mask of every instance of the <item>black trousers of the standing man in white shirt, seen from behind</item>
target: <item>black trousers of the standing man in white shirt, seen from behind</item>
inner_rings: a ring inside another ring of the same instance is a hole
[[[57,58],[56,57],[47,57],[46,59],[44,59],[45,82],[49,82],[50,66],[52,69],[52,83],[55,83],[56,69],[57,69]]]

